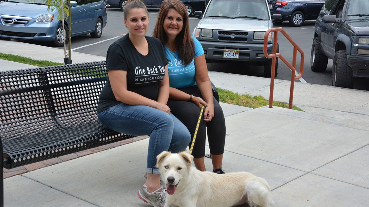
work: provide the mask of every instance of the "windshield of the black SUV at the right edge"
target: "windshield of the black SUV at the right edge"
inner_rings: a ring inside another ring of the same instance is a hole
[[[347,10],[348,20],[368,20],[369,19],[369,1],[351,0]]]

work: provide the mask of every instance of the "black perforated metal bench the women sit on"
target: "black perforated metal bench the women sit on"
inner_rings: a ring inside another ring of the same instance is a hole
[[[11,169],[133,137],[104,129],[97,119],[97,101],[106,78],[104,61],[1,72],[3,167]],[[4,204],[3,181],[0,206]]]

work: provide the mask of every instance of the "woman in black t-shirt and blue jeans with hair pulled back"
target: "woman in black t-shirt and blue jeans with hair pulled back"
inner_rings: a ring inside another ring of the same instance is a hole
[[[131,135],[150,134],[147,180],[139,197],[163,206],[156,156],[183,151],[190,142],[187,128],[170,113],[168,61],[161,42],[145,36],[149,15],[142,1],[127,1],[124,24],[129,33],[110,45],[106,60],[108,79],[101,91],[97,113],[104,127]]]

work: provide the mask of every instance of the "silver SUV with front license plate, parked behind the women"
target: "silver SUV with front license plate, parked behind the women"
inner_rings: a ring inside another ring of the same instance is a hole
[[[270,77],[272,60],[263,54],[265,32],[273,28],[272,21],[280,21],[280,14],[270,17],[266,0],[210,0],[204,15],[193,31],[203,46],[207,62],[243,61],[264,66]],[[268,53],[273,49],[273,35],[268,36]],[[277,52],[279,46],[277,45]],[[277,76],[278,58],[275,76]]]

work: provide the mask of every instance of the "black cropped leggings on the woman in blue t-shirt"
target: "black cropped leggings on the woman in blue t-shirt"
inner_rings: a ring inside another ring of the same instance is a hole
[[[203,98],[197,86],[182,88],[180,90],[186,92],[187,94],[193,94],[196,97]],[[224,152],[225,120],[223,110],[214,97],[213,101],[214,117],[210,122],[204,121],[204,114],[201,118],[195,145],[192,151],[194,158],[201,158],[205,156],[206,131],[208,135],[210,154],[220,155]],[[167,105],[170,108],[170,112],[173,113],[173,115],[175,115],[190,131],[192,143],[193,134],[195,133],[196,124],[197,120],[199,119],[201,109],[189,101],[175,101],[169,99]],[[191,147],[191,143],[189,143],[189,147]]]

